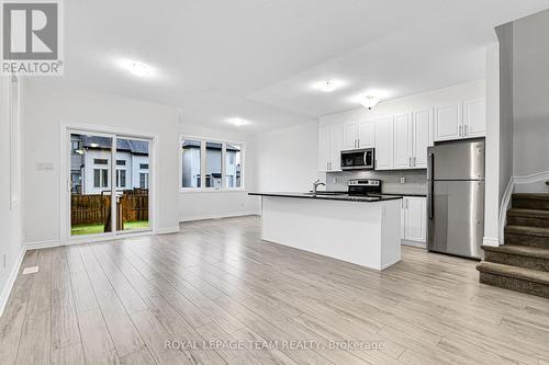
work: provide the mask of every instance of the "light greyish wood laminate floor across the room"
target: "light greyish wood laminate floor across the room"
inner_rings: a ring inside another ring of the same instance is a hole
[[[474,261],[403,248],[378,273],[261,241],[258,217],[29,251],[34,265],[1,364],[549,363],[549,300],[479,284]]]

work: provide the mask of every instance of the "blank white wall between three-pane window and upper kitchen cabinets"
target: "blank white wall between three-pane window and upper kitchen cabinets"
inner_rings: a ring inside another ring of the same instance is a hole
[[[258,191],[306,192],[322,178],[317,171],[316,121],[260,134],[256,145]]]

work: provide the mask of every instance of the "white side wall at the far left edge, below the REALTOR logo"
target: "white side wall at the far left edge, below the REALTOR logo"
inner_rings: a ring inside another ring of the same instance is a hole
[[[19,259],[22,254],[21,244],[21,201],[20,201],[20,164],[18,150],[20,138],[11,126],[16,126],[18,118],[12,124],[10,118],[9,79],[0,78],[0,313],[8,299],[9,288],[16,274]],[[13,136],[13,138],[12,138]],[[15,185],[18,186],[15,186]],[[19,202],[18,202],[19,201]],[[5,264],[4,264],[5,262]]]

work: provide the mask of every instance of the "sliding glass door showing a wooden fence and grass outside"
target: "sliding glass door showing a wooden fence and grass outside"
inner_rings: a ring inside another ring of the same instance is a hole
[[[69,134],[70,236],[149,230],[150,145],[112,134]]]

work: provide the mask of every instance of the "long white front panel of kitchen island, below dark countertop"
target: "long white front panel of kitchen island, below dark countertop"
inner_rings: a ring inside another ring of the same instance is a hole
[[[264,196],[261,239],[381,270],[384,203]]]

